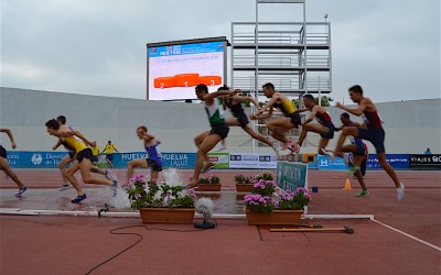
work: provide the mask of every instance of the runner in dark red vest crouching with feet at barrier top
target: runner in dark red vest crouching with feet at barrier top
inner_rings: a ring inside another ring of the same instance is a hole
[[[303,103],[306,108],[300,110],[299,112],[311,111],[311,114],[302,123],[302,132],[300,134],[299,142],[295,144],[295,146],[293,146],[293,152],[299,153],[308,132],[314,132],[321,136],[318,148],[319,154],[324,155],[326,154],[326,145],[330,143],[330,140],[334,138],[334,123],[332,123],[331,116],[327,113],[326,109],[315,105],[313,96],[304,95]],[[319,124],[310,123],[314,118]]]

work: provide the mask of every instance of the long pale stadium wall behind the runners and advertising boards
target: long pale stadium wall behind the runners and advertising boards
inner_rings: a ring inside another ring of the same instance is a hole
[[[441,152],[441,99],[384,102],[377,107],[385,121],[387,153],[419,154],[427,147],[432,153]],[[342,110],[334,107],[327,110],[338,127]],[[66,116],[68,125],[97,141],[101,150],[110,140],[120,152],[142,151],[135,134],[138,125],[147,125],[149,132],[161,140],[163,152],[195,152],[194,136],[209,129],[205,110],[197,103],[0,89],[0,125],[13,131],[18,151],[50,151],[56,140],[46,133],[44,123],[60,114]],[[9,139],[0,139],[10,150]],[[316,144],[319,139],[318,134],[310,133],[302,153],[315,152],[316,148],[308,144]],[[240,128],[230,129],[227,145],[229,152],[254,150],[252,141]],[[256,152],[270,153],[271,150],[260,147]]]

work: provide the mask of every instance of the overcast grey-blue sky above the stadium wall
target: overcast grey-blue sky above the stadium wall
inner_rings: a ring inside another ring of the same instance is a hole
[[[229,38],[230,22],[254,21],[256,6],[255,0],[0,1],[2,87],[137,99],[146,99],[147,43]],[[306,0],[306,21],[324,21],[325,12],[334,100],[347,102],[354,84],[376,102],[441,97],[439,0]]]

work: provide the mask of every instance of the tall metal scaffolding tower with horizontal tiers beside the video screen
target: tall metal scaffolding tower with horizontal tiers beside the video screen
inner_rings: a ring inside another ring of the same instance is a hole
[[[289,7],[299,15],[294,9],[301,6],[301,20],[261,22],[261,6],[270,10],[265,15],[276,16],[275,8],[287,13]],[[232,87],[259,94],[272,82],[290,96],[330,94],[331,24],[306,22],[305,13],[305,0],[256,0],[256,22],[232,22]]]

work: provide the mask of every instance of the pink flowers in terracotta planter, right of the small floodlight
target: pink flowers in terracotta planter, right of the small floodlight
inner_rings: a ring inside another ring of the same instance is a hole
[[[279,188],[275,180],[254,180],[252,194],[244,198],[248,224],[299,223],[311,195],[303,187],[295,191],[279,189],[278,194],[275,194],[276,189]]]

